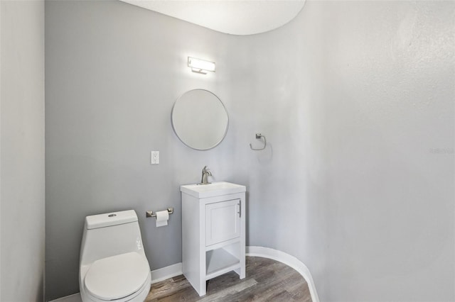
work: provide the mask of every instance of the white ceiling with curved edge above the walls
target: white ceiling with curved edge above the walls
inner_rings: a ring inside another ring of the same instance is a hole
[[[232,35],[252,35],[291,21],[305,0],[120,0]]]

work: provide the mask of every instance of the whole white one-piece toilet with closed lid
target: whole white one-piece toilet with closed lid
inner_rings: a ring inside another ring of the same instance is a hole
[[[80,247],[82,301],[144,301],[151,275],[134,210],[85,218]]]

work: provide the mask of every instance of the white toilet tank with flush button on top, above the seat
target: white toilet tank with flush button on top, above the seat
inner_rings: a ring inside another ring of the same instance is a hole
[[[80,264],[139,252],[145,256],[141,230],[134,210],[87,216],[80,246]]]

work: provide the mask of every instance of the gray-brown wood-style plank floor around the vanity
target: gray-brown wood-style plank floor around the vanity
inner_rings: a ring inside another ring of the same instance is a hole
[[[155,301],[273,301],[311,302],[305,279],[286,264],[262,257],[247,257],[247,276],[235,272],[211,279],[200,297],[180,275],[151,285],[146,302]]]

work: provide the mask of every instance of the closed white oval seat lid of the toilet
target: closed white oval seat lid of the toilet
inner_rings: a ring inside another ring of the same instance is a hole
[[[142,289],[149,274],[146,258],[137,252],[128,252],[93,262],[84,285],[87,293],[95,298],[119,300]]]

